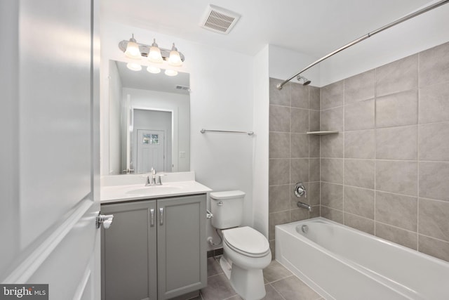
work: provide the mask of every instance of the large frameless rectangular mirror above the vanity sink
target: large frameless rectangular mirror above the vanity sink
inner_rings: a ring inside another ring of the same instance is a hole
[[[190,170],[189,74],[109,61],[109,174]]]

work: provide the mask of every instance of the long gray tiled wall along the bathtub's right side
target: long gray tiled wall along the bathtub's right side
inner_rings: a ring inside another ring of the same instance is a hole
[[[321,216],[449,261],[449,43],[323,86],[321,130]]]

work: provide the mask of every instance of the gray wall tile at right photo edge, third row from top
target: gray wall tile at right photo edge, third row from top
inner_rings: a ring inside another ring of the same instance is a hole
[[[420,160],[449,161],[449,122],[420,124],[419,147]]]

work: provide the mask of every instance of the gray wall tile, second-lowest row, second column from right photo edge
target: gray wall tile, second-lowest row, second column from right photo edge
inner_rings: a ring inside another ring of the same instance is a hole
[[[376,221],[417,231],[417,197],[376,192]]]

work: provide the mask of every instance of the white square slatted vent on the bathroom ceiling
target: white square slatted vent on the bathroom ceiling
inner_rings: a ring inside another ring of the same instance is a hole
[[[206,30],[228,34],[232,30],[232,27],[236,25],[239,18],[240,15],[238,13],[209,4],[200,26],[206,28]]]

